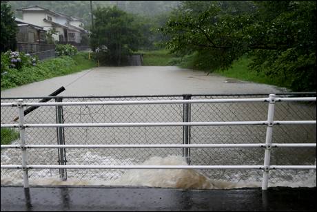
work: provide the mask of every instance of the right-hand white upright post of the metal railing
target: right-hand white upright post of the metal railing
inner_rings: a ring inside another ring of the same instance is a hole
[[[267,190],[269,182],[269,160],[271,157],[273,121],[274,121],[275,94],[269,94],[269,108],[267,111],[267,133],[265,138],[265,156],[262,190]]]

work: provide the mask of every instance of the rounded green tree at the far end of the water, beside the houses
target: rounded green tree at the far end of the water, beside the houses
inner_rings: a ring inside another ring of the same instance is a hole
[[[122,65],[126,56],[136,51],[142,41],[139,23],[116,6],[94,10],[94,28],[91,32],[92,49],[101,45],[108,48],[100,61],[107,65]]]

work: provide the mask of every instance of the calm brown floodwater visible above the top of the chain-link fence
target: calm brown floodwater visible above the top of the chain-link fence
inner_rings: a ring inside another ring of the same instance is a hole
[[[175,66],[96,67],[68,76],[6,89],[1,97],[47,96],[59,87],[60,96],[154,94],[276,93],[272,85],[249,83]]]

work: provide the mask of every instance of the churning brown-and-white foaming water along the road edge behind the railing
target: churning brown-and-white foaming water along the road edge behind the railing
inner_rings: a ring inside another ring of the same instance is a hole
[[[181,156],[167,156],[165,158],[152,157],[142,165],[187,165]],[[315,164],[316,165],[316,164]],[[100,171],[100,170],[96,170]],[[270,183],[269,187],[316,187],[316,171],[311,170],[303,176],[282,182]],[[1,178],[1,184],[22,184],[22,179]],[[245,180],[244,182],[229,182],[212,180],[194,169],[130,169],[116,180],[76,180],[70,178],[62,181],[58,178],[31,178],[31,185],[100,185],[100,186],[145,186],[165,187],[176,189],[236,189],[243,187],[260,187],[261,182]]]

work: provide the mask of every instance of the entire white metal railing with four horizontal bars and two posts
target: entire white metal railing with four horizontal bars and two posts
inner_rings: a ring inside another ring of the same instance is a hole
[[[19,124],[1,124],[1,127],[19,127],[21,145],[1,145],[1,148],[19,148],[22,154],[22,165],[1,165],[1,169],[23,169],[23,186],[29,187],[28,169],[261,169],[263,170],[262,189],[267,189],[270,169],[316,169],[311,165],[270,165],[270,153],[274,147],[316,147],[316,143],[272,143],[274,125],[316,125],[316,120],[274,120],[276,102],[283,101],[316,101],[316,97],[305,98],[227,98],[207,100],[130,100],[130,101],[100,101],[100,102],[55,102],[55,103],[1,103],[1,107],[18,107]],[[184,104],[184,103],[269,103],[267,120],[234,121],[234,122],[183,122],[183,123],[72,123],[72,124],[25,124],[23,107],[26,106],[69,106],[69,105],[143,105],[143,104]],[[265,143],[260,144],[204,144],[204,145],[25,145],[25,127],[161,127],[161,126],[217,126],[217,125],[266,125]],[[264,165],[28,165],[27,149],[36,148],[234,148],[263,147],[265,148]]]

